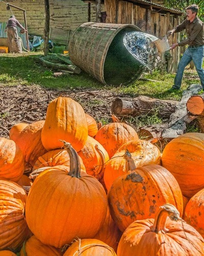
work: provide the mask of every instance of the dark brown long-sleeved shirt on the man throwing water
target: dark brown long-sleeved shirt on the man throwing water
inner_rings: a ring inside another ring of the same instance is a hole
[[[182,24],[176,26],[175,33],[186,29],[187,38],[179,42],[179,46],[203,46],[204,45],[204,24],[196,17],[193,22],[185,19]]]

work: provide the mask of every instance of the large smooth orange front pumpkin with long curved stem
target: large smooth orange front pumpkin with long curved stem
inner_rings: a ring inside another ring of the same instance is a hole
[[[26,204],[31,231],[42,243],[57,248],[77,237],[94,237],[107,213],[103,186],[81,172],[77,152],[64,143],[70,157],[69,173],[55,167],[43,172],[31,186]]]

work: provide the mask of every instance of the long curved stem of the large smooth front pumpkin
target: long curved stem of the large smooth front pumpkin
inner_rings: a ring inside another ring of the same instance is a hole
[[[59,140],[64,143],[64,148],[67,151],[70,159],[70,170],[68,175],[75,178],[80,178],[80,172],[81,172],[81,165],[80,165],[80,159],[79,155],[77,154],[77,151],[74,150],[74,148],[71,146],[69,142],[66,142],[65,140]]]

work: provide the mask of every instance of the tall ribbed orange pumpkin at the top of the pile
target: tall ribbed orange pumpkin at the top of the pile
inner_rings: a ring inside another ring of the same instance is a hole
[[[68,97],[58,97],[48,104],[42,129],[42,144],[47,151],[61,148],[66,140],[78,152],[86,143],[88,126],[82,106]]]

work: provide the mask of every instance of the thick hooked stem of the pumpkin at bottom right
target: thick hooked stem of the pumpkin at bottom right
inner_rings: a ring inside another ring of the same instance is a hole
[[[181,220],[180,213],[172,204],[164,204],[159,208],[160,209],[155,217],[155,222],[151,227],[151,231],[155,233],[167,233],[169,231],[168,228],[165,227],[167,216],[172,221],[179,221]]]

